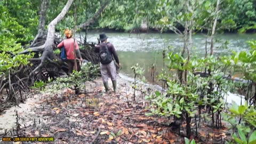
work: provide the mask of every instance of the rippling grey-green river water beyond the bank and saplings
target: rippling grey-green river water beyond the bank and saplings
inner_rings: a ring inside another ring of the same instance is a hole
[[[85,33],[81,33],[85,35]],[[108,42],[113,43],[121,61],[121,73],[133,77],[131,67],[139,63],[145,69],[144,76],[148,82],[152,82],[151,66],[156,64],[156,74],[161,73],[163,68],[163,49],[171,46],[171,51],[180,52],[183,45],[182,38],[175,34],[129,34],[129,33],[106,33]],[[98,43],[99,33],[88,33],[87,42]],[[77,37],[78,38],[78,37]],[[255,34],[222,34],[216,35],[214,53],[230,54],[232,51],[249,50],[246,41],[255,39]],[[79,38],[78,38],[79,39]],[[210,42],[210,39],[207,39]],[[227,49],[220,47],[225,41],[228,42]],[[199,56],[205,54],[205,35],[193,35],[192,53]],[[208,45],[210,49],[210,45]],[[157,83],[156,83],[157,84]]]

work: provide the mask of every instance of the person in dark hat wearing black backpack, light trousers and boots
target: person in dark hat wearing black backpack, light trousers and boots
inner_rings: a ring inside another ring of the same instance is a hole
[[[99,53],[101,77],[106,92],[109,92],[108,77],[110,77],[113,84],[114,93],[116,93],[116,67],[113,61],[113,57],[115,58],[119,67],[120,62],[115,47],[113,44],[107,42],[107,38],[108,37],[105,33],[100,34],[99,41],[101,43],[95,46],[94,51]]]

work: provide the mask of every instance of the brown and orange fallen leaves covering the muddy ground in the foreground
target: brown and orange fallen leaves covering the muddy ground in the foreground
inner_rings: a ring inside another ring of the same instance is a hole
[[[129,86],[129,84],[127,84]],[[42,100],[41,105],[35,108],[35,115],[31,117],[24,116],[24,121],[31,121],[33,124],[36,118],[35,126],[23,127],[20,131],[24,137],[42,135],[42,137],[55,137],[55,142],[59,143],[89,143],[101,128],[97,143],[108,143],[117,140],[118,143],[180,143],[183,139],[175,132],[168,128],[158,125],[157,123],[165,123],[166,119],[145,116],[148,113],[148,105],[140,99],[139,103],[134,102],[133,95],[127,94],[129,104],[127,103],[127,95],[125,87],[119,91],[118,97],[97,93],[102,91],[101,82],[91,87],[88,94],[80,94],[76,96],[74,92],[67,90],[68,97],[64,97],[63,93],[54,94],[54,96],[46,95],[46,99]],[[132,93],[132,91],[130,91]],[[42,113],[42,111],[44,111]],[[55,115],[48,115],[48,111],[55,111]],[[46,115],[47,114],[47,115]],[[40,123],[39,124],[39,119]],[[41,131],[37,131],[37,126],[41,125]],[[183,125],[186,126],[186,125]],[[166,129],[164,129],[166,128]],[[122,130],[122,131],[121,131]],[[117,135],[117,133],[119,135]],[[208,129],[199,131],[204,137]],[[114,133],[115,135],[111,135]],[[214,133],[214,132],[213,132]],[[225,134],[218,133],[217,136]],[[211,135],[209,133],[209,135]]]

